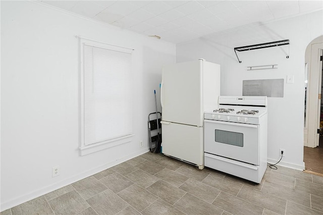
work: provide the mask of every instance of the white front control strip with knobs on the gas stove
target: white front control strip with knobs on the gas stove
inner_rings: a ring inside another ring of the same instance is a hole
[[[210,114],[205,113],[204,119],[206,120],[219,120],[219,121],[227,121],[227,122],[236,122],[236,123],[247,123],[247,124],[259,124],[259,118],[257,117],[246,117],[246,116],[229,116],[224,114]]]

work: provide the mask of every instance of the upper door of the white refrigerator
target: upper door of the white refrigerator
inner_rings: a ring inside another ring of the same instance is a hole
[[[163,67],[160,89],[163,121],[203,125],[202,64],[198,60]]]

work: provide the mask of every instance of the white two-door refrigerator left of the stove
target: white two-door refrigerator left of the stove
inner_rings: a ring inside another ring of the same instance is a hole
[[[197,61],[163,67],[163,153],[204,168],[203,114],[218,106],[220,65]]]

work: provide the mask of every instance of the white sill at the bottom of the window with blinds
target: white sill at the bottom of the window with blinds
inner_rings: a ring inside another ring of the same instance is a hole
[[[111,147],[115,147],[117,145],[121,145],[127,142],[131,142],[132,138],[134,134],[129,134],[123,137],[119,137],[116,139],[112,139],[112,140],[105,140],[102,142],[98,142],[98,143],[93,143],[90,145],[83,145],[80,147],[80,155],[86,155],[86,154],[90,154],[96,151],[101,151],[103,149],[107,149],[107,148],[111,148]]]

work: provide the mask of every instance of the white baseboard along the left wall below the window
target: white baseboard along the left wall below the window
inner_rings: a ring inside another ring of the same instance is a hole
[[[149,148],[144,148],[140,151],[136,151],[135,153],[132,153],[132,154],[129,154],[125,157],[121,157],[120,159],[117,159],[117,160],[114,160],[113,162],[110,162],[110,163],[107,163],[107,164],[104,164],[100,167],[96,167],[96,168],[93,168],[91,170],[88,170],[88,171],[85,171],[83,173],[80,173],[76,176],[73,176],[71,178],[68,178],[68,179],[64,179],[62,181],[59,181],[55,184],[51,184],[49,186],[46,186],[46,187],[43,187],[43,188],[40,188],[38,190],[35,190],[33,192],[30,192],[30,193],[27,193],[27,194],[24,194],[24,195],[21,195],[17,198],[14,198],[14,199],[11,199],[9,201],[6,201],[6,202],[1,202],[1,206],[0,206],[0,211],[4,211],[4,210],[7,210],[9,208],[12,208],[14,206],[17,206],[19,204],[22,204],[24,202],[27,202],[29,200],[32,200],[34,198],[37,198],[39,196],[42,196],[42,195],[45,195],[47,193],[50,193],[52,191],[55,191],[57,189],[60,189],[62,187],[65,187],[67,185],[70,185],[70,184],[73,184],[74,182],[77,182],[77,181],[80,181],[82,179],[85,179],[89,176],[92,176],[96,173],[99,173],[103,170],[106,170],[106,169],[109,169],[111,167],[114,167],[118,164],[121,164],[129,159],[132,159],[136,156],[139,156],[141,154],[144,154],[146,152],[149,151]]]

